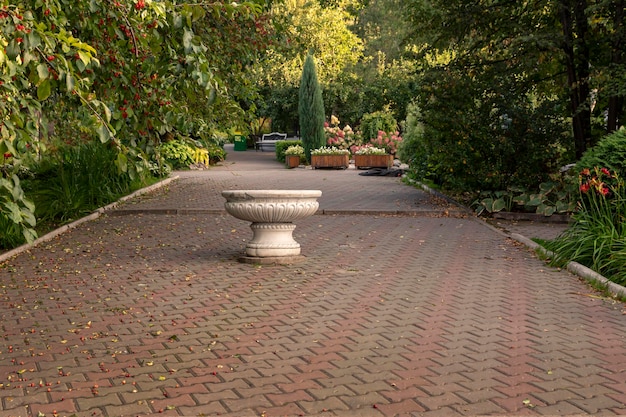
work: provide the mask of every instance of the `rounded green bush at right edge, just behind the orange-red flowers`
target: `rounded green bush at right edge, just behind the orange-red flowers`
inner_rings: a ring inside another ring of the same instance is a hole
[[[622,127],[602,138],[576,164],[578,172],[589,167],[608,168],[626,178],[626,128]]]

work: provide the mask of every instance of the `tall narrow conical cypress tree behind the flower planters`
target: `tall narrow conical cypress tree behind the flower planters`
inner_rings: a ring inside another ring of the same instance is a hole
[[[324,134],[324,100],[317,81],[315,61],[309,54],[304,62],[298,100],[300,137],[307,160],[311,160],[311,149],[326,145]]]

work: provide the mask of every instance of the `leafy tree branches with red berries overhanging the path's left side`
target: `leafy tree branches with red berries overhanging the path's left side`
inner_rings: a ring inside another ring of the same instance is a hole
[[[113,172],[130,181],[143,175],[162,137],[210,142],[216,126],[246,121],[240,103],[257,91],[247,67],[274,33],[257,1],[0,7],[0,154],[19,162],[45,159],[55,142],[113,142]],[[6,196],[23,205],[11,175],[2,172]],[[0,216],[17,221],[12,213],[0,207]]]

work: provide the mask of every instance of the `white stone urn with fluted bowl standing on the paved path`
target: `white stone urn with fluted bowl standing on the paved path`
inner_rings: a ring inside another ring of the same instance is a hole
[[[226,190],[226,211],[252,224],[246,245],[251,258],[296,258],[300,244],[293,239],[294,221],[317,212],[319,190]]]

